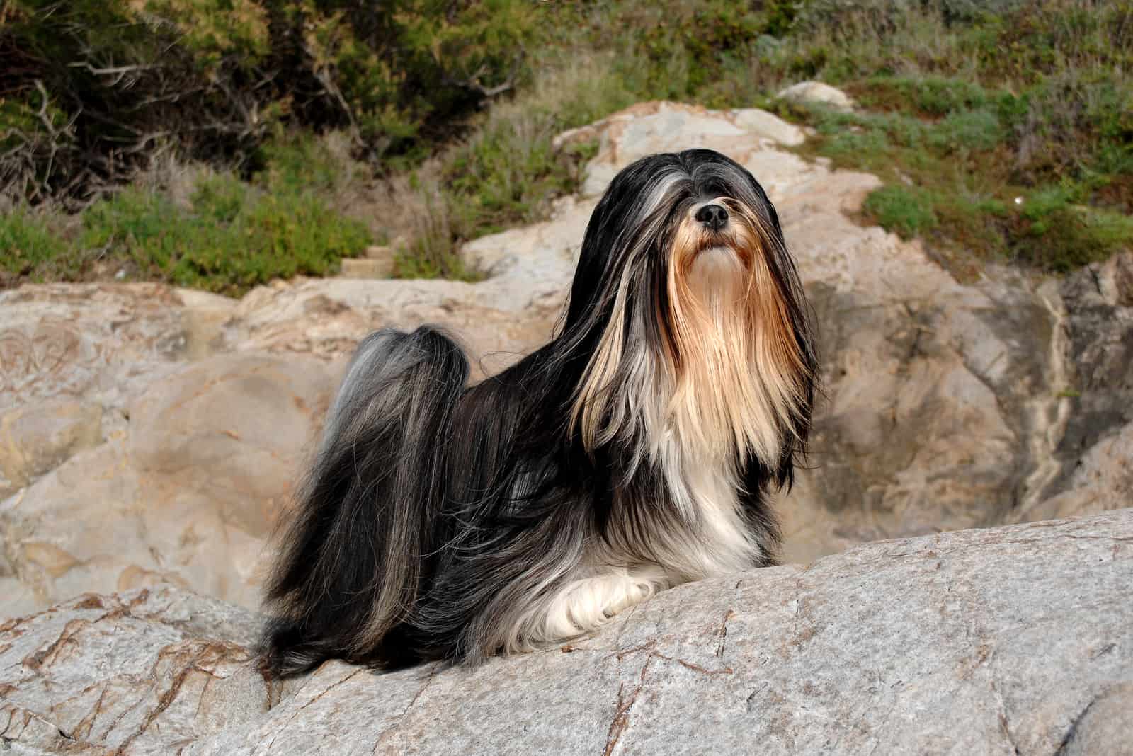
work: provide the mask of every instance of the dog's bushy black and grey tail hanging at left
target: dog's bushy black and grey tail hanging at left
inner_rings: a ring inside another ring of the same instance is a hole
[[[432,327],[358,346],[266,586],[267,671],[373,663],[411,610],[442,502],[440,449],[467,379],[460,346]]]

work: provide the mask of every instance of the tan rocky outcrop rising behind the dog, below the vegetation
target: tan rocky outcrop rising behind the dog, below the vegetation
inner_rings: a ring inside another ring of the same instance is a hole
[[[440,323],[477,375],[499,370],[551,335],[610,179],[690,146],[766,187],[821,334],[812,469],[778,504],[790,560],[1133,505],[1133,256],[1062,281],[946,269],[859,225],[878,179],[786,151],[804,138],[759,110],[656,102],[564,134],[598,144],[582,191],[467,244],[479,283],[0,292],[0,617],[161,582],[255,605],[265,538],[355,343]]]

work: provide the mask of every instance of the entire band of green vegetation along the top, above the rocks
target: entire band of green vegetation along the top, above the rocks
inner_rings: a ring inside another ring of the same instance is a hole
[[[369,239],[474,278],[460,243],[578,186],[595,146],[554,135],[654,98],[813,127],[800,152],[885,182],[864,220],[945,263],[1133,246],[1133,0],[8,0],[0,50],[9,282],[238,293]],[[802,79],[858,110],[775,98]],[[169,154],[212,167],[179,189]]]

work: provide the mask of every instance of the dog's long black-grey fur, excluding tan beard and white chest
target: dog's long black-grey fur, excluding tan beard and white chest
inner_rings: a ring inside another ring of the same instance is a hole
[[[736,450],[738,501],[773,564],[780,535],[765,502],[790,484],[810,429],[817,356],[802,287],[778,218],[744,169],[710,151],[642,158],[622,171],[586,231],[556,337],[500,375],[467,385],[468,361],[442,330],[385,329],[358,347],[266,590],[274,618],[262,653],[275,675],[331,659],[383,668],[444,659],[475,663],[501,647],[501,622],[553,591],[590,550],[654,565],[674,510],[640,428],[586,448],[571,407],[613,317],[634,349],[662,351],[664,285],[675,226],[714,196],[753,207],[778,250],[768,267],[806,362],[804,396],[783,420],[773,462]],[[649,238],[642,238],[642,234]],[[633,282],[615,307],[623,273]],[[623,360],[605,389],[629,380]],[[628,385],[628,384],[625,384]],[[664,564],[658,565],[664,568]],[[680,579],[695,579],[684,575]],[[561,581],[560,581],[561,582]]]

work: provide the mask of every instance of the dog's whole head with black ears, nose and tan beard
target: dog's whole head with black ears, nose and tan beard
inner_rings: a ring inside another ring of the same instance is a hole
[[[594,449],[638,430],[772,470],[806,441],[817,372],[802,285],[756,179],[710,149],[644,157],[590,217],[563,327]]]

